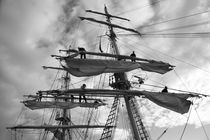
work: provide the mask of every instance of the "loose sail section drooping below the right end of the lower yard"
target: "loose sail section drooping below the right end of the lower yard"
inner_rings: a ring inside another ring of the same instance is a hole
[[[192,104],[192,102],[187,100],[187,98],[198,97],[198,95],[192,94],[157,93],[148,91],[141,91],[141,93],[155,104],[181,114],[187,113],[190,105]]]

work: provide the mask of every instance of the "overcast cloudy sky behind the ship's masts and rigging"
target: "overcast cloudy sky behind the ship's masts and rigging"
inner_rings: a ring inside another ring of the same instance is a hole
[[[153,5],[151,5],[153,3]],[[155,3],[155,4],[154,4]],[[210,13],[205,12],[185,19],[156,26],[146,25],[210,10],[209,0],[1,0],[0,1],[0,136],[10,139],[6,126],[15,124],[22,111],[23,94],[49,89],[55,73],[43,71],[42,65],[57,64],[51,54],[69,44],[85,45],[96,50],[97,35],[105,34],[105,27],[80,22],[78,16],[93,16],[85,9],[102,11],[104,4],[110,12],[129,18],[120,25],[136,28],[141,33],[194,33],[209,32],[210,24],[191,28],[167,30],[186,25],[205,23]],[[101,17],[100,17],[101,18]],[[98,27],[98,28],[96,28]],[[157,32],[159,31],[159,32]],[[120,30],[117,32],[125,33]],[[103,41],[103,39],[102,39]],[[136,51],[138,57],[157,59],[176,66],[165,75],[144,73],[149,84],[209,94],[210,41],[209,38],[159,38],[133,36],[119,37],[122,54]],[[105,49],[105,45],[102,46]],[[155,81],[155,82],[154,82]],[[139,99],[142,115],[151,137],[156,139],[166,128],[162,140],[180,138],[188,114],[180,115]],[[196,101],[197,112],[207,134],[210,134],[210,100]],[[29,113],[30,114],[30,113]],[[33,113],[31,113],[33,115]],[[31,115],[27,117],[31,117]],[[210,137],[210,135],[209,135]],[[205,133],[194,109],[183,140],[206,140]]]

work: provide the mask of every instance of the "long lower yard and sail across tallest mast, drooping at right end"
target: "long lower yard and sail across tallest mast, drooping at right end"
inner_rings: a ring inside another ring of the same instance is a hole
[[[63,94],[84,94],[85,96],[144,96],[155,104],[162,106],[164,108],[170,109],[172,111],[184,114],[189,111],[191,101],[187,100],[190,97],[200,97],[198,94],[186,94],[186,93],[167,93],[167,92],[150,92],[150,91],[138,91],[138,90],[110,90],[110,89],[70,89],[66,91],[52,90],[52,91],[42,91],[43,94],[54,94],[58,92]]]

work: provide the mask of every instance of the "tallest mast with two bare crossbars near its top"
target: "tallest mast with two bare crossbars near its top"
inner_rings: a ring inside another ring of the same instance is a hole
[[[109,34],[109,40],[111,42],[111,47],[113,48],[114,53],[116,55],[120,55],[120,52],[119,52],[119,49],[118,49],[117,44],[116,44],[116,34],[114,33],[113,28],[118,28],[118,29],[123,29],[123,30],[126,30],[126,31],[130,31],[130,32],[134,32],[134,33],[141,36],[141,34],[134,29],[130,29],[130,28],[126,28],[126,27],[116,25],[116,24],[112,24],[111,23],[111,17],[122,19],[122,20],[127,20],[127,19],[110,15],[108,13],[108,10],[107,10],[106,6],[104,7],[105,14],[100,13],[100,12],[96,12],[96,11],[91,11],[91,10],[86,10],[86,11],[106,16],[106,21],[107,22],[99,21],[99,20],[96,20],[96,19],[93,19],[93,18],[86,18],[86,17],[80,17],[80,19],[107,25],[108,28],[109,28],[109,33],[110,33]],[[118,60],[120,60],[120,59],[118,59]],[[123,82],[123,86],[118,86],[117,89],[119,89],[119,90],[129,90],[130,89],[131,86],[130,86],[130,83],[128,82],[126,73],[115,73],[114,76],[115,76],[115,81],[117,81],[116,79],[119,79],[121,82]],[[132,100],[133,100],[133,98],[132,99],[131,98],[132,98],[132,96],[124,95],[124,100],[125,100],[125,103],[126,103],[126,108],[127,108],[130,124],[131,124],[132,130],[133,130],[133,136],[136,140],[141,140],[142,137],[140,136],[141,135],[140,131],[144,129],[144,131],[143,131],[144,136],[146,136],[147,132],[146,132],[143,124],[142,124],[143,128],[139,128],[141,126],[137,124],[137,121],[141,121],[141,118],[139,117],[138,113],[133,114],[134,112],[136,113],[137,111],[136,111],[136,105],[135,104],[132,104],[132,105],[130,104],[130,103],[132,103]],[[136,118],[134,118],[134,116],[138,116],[137,120],[136,120]],[[144,138],[145,138],[145,140],[147,140],[147,136],[144,137]]]

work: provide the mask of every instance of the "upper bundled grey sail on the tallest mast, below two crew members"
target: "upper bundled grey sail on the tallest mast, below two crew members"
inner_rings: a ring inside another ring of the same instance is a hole
[[[129,62],[102,59],[66,58],[65,70],[74,76],[94,76],[102,73],[128,72],[141,68],[149,72],[164,74],[172,70],[171,65],[164,62]]]

